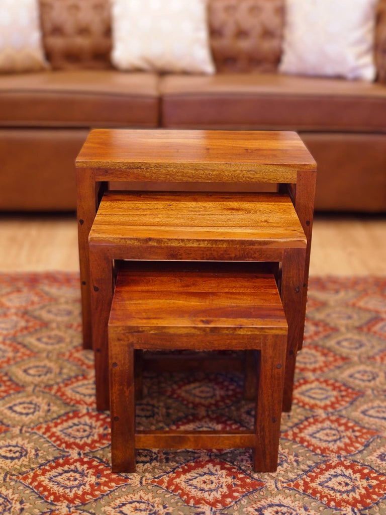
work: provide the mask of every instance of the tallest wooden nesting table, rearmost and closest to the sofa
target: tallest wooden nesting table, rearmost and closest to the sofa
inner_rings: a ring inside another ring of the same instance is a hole
[[[288,192],[307,237],[302,320],[315,194],[316,164],[299,136],[282,131],[94,130],[78,158],[77,195],[83,345],[92,348],[88,238],[110,181],[131,183],[279,184]],[[167,189],[167,187],[166,187]],[[290,323],[290,321],[289,321]]]

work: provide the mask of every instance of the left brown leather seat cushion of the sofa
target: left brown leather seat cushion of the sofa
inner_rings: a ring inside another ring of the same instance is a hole
[[[152,73],[74,70],[6,75],[0,126],[156,127],[159,78]]]

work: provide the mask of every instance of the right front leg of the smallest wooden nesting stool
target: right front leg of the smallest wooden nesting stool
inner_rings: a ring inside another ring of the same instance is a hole
[[[280,417],[284,384],[287,337],[267,336],[262,344],[256,399],[253,468],[255,472],[275,472],[280,437]]]

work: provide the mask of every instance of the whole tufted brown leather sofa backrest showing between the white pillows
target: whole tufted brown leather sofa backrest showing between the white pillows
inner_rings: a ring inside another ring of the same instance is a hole
[[[109,0],[39,0],[43,42],[54,70],[110,68]],[[275,72],[284,0],[209,0],[210,46],[218,72]],[[375,58],[386,82],[386,0],[379,0]]]

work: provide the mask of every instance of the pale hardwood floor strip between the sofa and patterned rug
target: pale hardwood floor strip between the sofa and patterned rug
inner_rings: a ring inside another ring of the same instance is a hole
[[[78,271],[75,215],[3,215],[0,271]],[[317,214],[310,274],[386,275],[386,216]]]

